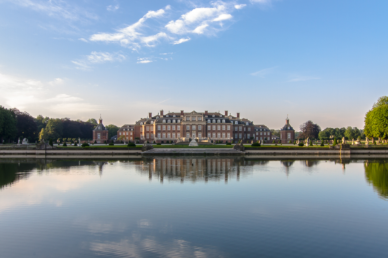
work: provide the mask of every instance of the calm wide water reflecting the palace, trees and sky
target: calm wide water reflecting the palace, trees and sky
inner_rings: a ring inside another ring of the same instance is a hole
[[[0,159],[0,257],[386,257],[388,162]]]

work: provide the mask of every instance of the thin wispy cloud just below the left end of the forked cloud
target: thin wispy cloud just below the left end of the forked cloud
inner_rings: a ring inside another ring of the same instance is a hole
[[[92,69],[92,64],[103,64],[105,62],[121,62],[125,60],[126,57],[121,52],[96,52],[92,51],[90,55],[83,56],[82,59],[71,61],[76,65],[77,69],[90,71]]]

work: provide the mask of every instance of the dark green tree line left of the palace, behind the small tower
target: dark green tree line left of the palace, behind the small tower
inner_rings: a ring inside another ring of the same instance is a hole
[[[17,108],[0,106],[0,143],[13,143],[23,138],[27,138],[30,143],[38,142],[40,139],[92,140],[93,129],[97,124],[94,118],[85,122],[80,119],[71,120],[67,117],[50,118],[43,117],[43,115],[33,117]],[[119,127],[110,124],[106,126],[106,129],[111,138],[117,134]]]

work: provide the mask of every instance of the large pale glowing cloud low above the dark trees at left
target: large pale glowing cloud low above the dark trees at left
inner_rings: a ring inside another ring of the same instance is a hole
[[[36,79],[21,79],[0,74],[0,91],[7,92],[7,94],[0,96],[0,102],[20,110],[36,110],[37,107],[40,107],[46,112],[66,115],[81,114],[81,112],[101,108],[82,98],[57,92],[67,87],[52,87],[63,84],[65,84],[65,80],[62,78],[42,83]]]

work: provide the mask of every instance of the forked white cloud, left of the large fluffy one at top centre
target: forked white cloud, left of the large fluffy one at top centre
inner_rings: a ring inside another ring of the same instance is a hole
[[[127,26],[122,29],[118,29],[116,33],[97,33],[90,36],[90,41],[103,41],[103,42],[117,42],[122,46],[131,47],[133,50],[136,50],[140,46],[154,46],[154,44],[149,44],[155,41],[158,41],[161,38],[166,38],[166,33],[160,32],[151,36],[144,36],[142,29],[144,27],[144,22],[147,19],[151,18],[160,18],[165,15],[166,10],[169,10],[171,7],[167,5],[165,9],[159,9],[157,11],[148,11],[139,21],[133,23],[130,26]]]

